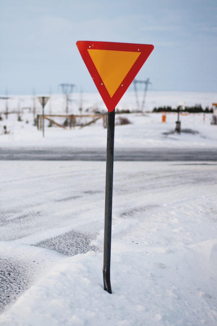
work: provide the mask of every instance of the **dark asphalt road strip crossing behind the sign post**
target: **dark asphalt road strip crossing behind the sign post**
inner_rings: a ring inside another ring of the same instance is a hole
[[[116,161],[217,161],[217,149],[115,149]],[[105,161],[106,149],[0,148],[0,160]]]

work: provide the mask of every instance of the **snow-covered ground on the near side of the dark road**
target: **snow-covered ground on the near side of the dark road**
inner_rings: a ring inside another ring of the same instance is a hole
[[[1,259],[19,272],[3,275],[13,300],[1,326],[216,325],[216,163],[115,162],[113,294],[105,162],[0,166]]]

